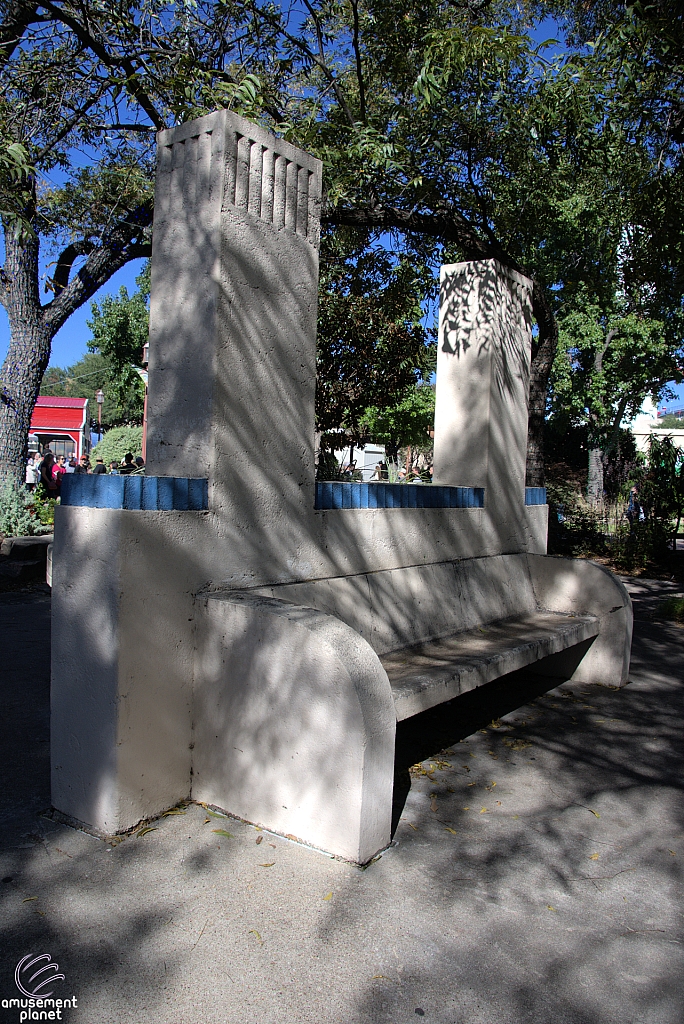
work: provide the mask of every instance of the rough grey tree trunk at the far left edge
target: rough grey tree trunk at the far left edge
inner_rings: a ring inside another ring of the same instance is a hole
[[[38,248],[36,237],[18,239],[5,227],[0,294],[10,341],[0,370],[0,485],[24,482],[31,417],[50,359],[52,334],[40,304]]]

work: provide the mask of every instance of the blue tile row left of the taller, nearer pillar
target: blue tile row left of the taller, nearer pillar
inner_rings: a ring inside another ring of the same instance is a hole
[[[209,481],[177,476],[98,476],[68,473],[61,479],[62,505],[91,509],[202,511],[209,508]]]

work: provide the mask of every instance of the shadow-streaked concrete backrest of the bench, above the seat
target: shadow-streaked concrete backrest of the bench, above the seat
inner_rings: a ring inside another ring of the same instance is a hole
[[[495,555],[263,587],[336,615],[378,654],[537,610],[524,555]]]

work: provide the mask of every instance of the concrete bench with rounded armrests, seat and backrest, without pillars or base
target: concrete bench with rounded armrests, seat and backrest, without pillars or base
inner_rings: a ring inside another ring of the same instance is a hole
[[[581,559],[498,555],[201,600],[194,798],[360,863],[390,840],[397,721],[524,667],[549,686],[622,683],[629,667],[629,595]]]

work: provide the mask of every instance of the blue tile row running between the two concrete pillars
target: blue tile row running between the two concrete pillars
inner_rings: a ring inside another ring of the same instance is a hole
[[[481,509],[484,487],[442,487],[418,483],[346,483],[322,480],[315,485],[316,509]]]

